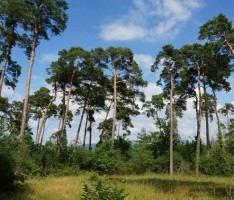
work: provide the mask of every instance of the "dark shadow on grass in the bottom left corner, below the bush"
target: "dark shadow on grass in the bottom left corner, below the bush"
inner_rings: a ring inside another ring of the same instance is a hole
[[[11,190],[2,192],[0,191],[0,200],[29,200],[34,191],[28,184],[17,184]]]

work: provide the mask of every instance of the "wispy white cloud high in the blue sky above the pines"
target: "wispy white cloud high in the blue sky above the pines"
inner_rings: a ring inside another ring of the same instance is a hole
[[[101,26],[100,36],[106,41],[172,38],[201,6],[201,0],[132,0],[126,15]]]

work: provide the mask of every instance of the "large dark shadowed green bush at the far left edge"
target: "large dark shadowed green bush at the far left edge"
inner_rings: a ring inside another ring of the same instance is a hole
[[[30,146],[14,135],[0,135],[0,190],[11,189],[31,175],[35,164]]]

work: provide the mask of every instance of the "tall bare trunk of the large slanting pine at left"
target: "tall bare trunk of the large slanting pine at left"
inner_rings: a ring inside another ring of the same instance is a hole
[[[25,98],[24,98],[24,106],[23,106],[23,113],[22,113],[22,123],[21,123],[21,129],[20,129],[20,138],[23,138],[25,134],[26,123],[27,123],[29,93],[30,93],[30,85],[31,85],[32,68],[34,64],[35,51],[36,51],[36,45],[37,45],[37,35],[38,33],[36,31],[36,33],[34,33],[32,50],[31,50],[31,55],[30,55],[30,62],[29,62],[28,73],[27,73]]]

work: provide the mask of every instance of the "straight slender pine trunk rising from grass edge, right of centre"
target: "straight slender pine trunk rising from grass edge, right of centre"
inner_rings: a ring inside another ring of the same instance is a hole
[[[174,77],[171,75],[171,89],[170,89],[170,163],[169,174],[173,175],[173,136],[174,136],[174,113],[173,113],[173,90],[174,90]]]

